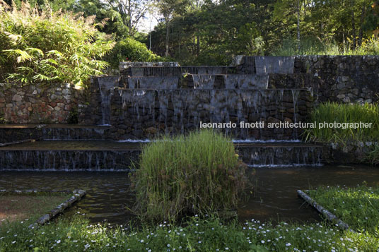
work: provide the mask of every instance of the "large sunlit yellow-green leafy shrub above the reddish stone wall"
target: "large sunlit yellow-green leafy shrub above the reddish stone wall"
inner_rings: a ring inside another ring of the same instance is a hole
[[[98,32],[94,16],[39,11],[0,0],[0,77],[21,83],[85,85],[107,67],[99,59],[114,43]]]

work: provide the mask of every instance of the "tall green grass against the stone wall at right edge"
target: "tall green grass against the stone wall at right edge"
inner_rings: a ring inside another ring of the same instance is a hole
[[[305,129],[307,140],[332,143],[348,141],[379,140],[379,105],[378,104],[338,104],[326,102],[320,104],[311,114],[310,121],[315,121],[316,128]],[[371,128],[318,128],[319,123],[372,123]]]

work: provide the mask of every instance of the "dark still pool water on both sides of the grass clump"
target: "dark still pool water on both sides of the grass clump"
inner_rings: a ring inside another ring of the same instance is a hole
[[[281,220],[315,222],[317,212],[298,198],[298,189],[325,186],[356,186],[366,181],[379,186],[379,169],[366,166],[351,167],[292,167],[257,168],[254,193],[241,203],[238,216],[243,220]],[[0,172],[0,189],[38,189],[87,191],[83,200],[66,214],[85,214],[93,223],[107,220],[125,224],[134,216],[127,210],[134,203],[128,191],[126,172]]]

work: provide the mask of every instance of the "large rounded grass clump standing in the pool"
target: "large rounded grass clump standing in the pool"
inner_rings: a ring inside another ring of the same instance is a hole
[[[132,175],[135,210],[158,222],[231,210],[246,186],[231,139],[213,131],[149,143]]]

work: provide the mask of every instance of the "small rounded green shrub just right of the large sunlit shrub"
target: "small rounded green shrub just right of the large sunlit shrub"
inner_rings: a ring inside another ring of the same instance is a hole
[[[129,37],[118,41],[106,59],[112,66],[116,67],[120,61],[163,61],[160,56],[153,54],[153,52],[147,49],[146,44]]]

